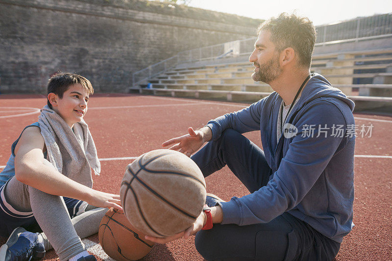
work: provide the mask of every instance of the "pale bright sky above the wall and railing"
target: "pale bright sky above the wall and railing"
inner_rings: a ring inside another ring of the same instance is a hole
[[[191,0],[188,5],[264,20],[295,11],[315,25],[392,13],[392,0]]]

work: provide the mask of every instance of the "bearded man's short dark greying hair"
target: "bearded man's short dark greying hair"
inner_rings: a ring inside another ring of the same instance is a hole
[[[278,52],[292,47],[297,54],[298,65],[310,68],[316,42],[316,29],[313,22],[306,17],[281,13],[277,18],[271,17],[261,23],[257,28],[257,34],[259,35],[263,30],[271,33],[270,40],[275,44]]]

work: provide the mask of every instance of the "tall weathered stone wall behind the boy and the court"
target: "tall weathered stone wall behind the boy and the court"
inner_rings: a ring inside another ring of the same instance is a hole
[[[45,93],[76,72],[96,91],[179,51],[254,37],[259,20],[144,0],[0,0],[1,93]]]

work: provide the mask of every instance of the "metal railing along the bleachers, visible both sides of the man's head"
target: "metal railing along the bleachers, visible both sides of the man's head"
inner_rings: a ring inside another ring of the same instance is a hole
[[[334,41],[354,42],[361,38],[372,39],[392,35],[392,13],[320,25],[316,26],[316,30],[316,46]],[[133,86],[135,87],[148,78],[181,63],[215,60],[222,56],[235,57],[250,54],[253,51],[255,41],[256,38],[252,37],[179,52],[171,58],[133,73]]]

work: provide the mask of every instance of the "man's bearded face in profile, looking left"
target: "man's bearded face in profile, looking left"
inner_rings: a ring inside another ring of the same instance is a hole
[[[282,69],[279,65],[279,53],[270,41],[270,31],[263,30],[254,44],[255,48],[249,56],[249,62],[255,66],[252,79],[255,82],[270,82],[276,80]]]

